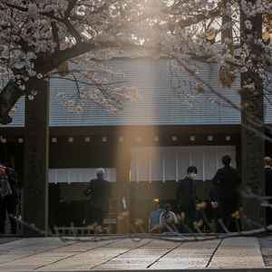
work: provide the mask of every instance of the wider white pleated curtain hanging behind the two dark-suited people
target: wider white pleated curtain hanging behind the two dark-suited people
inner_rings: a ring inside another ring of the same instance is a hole
[[[131,181],[180,180],[189,165],[198,168],[198,180],[210,180],[228,154],[236,167],[235,146],[183,146],[131,149]]]

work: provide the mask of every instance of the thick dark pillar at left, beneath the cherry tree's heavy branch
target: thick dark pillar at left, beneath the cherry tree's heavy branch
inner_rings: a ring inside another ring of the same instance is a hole
[[[40,83],[37,91],[33,100],[25,98],[23,219],[47,231],[49,83]],[[43,236],[27,226],[23,235]]]

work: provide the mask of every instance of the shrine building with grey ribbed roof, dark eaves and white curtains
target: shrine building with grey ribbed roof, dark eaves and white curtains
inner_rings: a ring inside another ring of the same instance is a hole
[[[217,66],[198,63],[199,77],[209,83],[212,90],[205,87],[203,92],[196,92],[196,79],[182,71],[174,74],[167,58],[118,57],[106,65],[125,73],[114,81],[134,86],[141,94],[140,101],[126,102],[125,110],[119,114],[106,112],[93,102],[86,102],[82,114],[69,112],[56,95],[57,92],[72,94],[75,83],[65,79],[50,82],[51,225],[67,225],[72,221],[75,225],[83,224],[83,187],[94,178],[97,167],[106,169],[106,178],[112,184],[107,222],[118,232],[124,231],[121,224],[117,230],[114,226],[121,210],[129,211],[131,226],[142,219],[147,229],[152,199],[174,205],[177,181],[185,176],[189,165],[199,170],[199,199],[208,199],[209,180],[221,167],[222,154],[230,154],[232,165],[240,169],[241,117],[229,103],[239,105],[236,92],[239,79],[231,90],[224,89],[218,83]],[[177,93],[180,89],[182,93]],[[219,98],[217,93],[223,94],[225,99]],[[272,123],[271,109],[266,102],[267,123]],[[23,99],[13,117],[11,124],[0,126],[0,159],[12,160],[23,177]],[[271,156],[270,147],[267,142],[266,155]]]

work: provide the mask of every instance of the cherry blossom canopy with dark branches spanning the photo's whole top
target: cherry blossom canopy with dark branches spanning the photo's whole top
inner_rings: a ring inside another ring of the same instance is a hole
[[[249,18],[245,22],[248,39],[243,43],[241,12]],[[116,72],[102,64],[121,50],[145,50],[151,57],[169,55],[172,71],[181,69],[197,80],[189,94],[180,85],[173,86],[185,102],[209,87],[199,78],[196,61],[218,63],[219,82],[228,88],[238,73],[253,70],[266,84],[271,43],[268,38],[249,38],[250,17],[266,15],[269,35],[271,12],[269,0],[0,0],[0,122],[12,121],[9,112],[15,103],[24,95],[33,99],[40,81],[66,73],[71,74],[67,80],[89,85],[87,89],[76,85],[78,101],[89,99],[109,111],[121,111],[122,102],[138,98],[137,90],[109,81]],[[250,44],[262,53],[252,53]],[[67,61],[90,67],[78,70]],[[244,85],[257,92],[254,83]],[[58,96],[75,112],[83,112],[82,103],[67,99],[65,93]]]

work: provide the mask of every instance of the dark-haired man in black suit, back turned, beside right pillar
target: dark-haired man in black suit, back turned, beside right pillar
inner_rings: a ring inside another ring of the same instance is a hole
[[[219,186],[220,218],[229,231],[237,231],[237,223],[233,214],[239,209],[239,185],[241,183],[238,170],[230,166],[230,157],[223,155],[221,159],[224,167],[219,169],[211,183]]]

